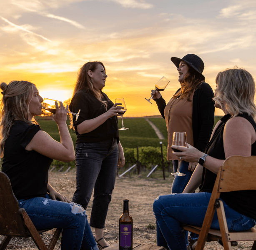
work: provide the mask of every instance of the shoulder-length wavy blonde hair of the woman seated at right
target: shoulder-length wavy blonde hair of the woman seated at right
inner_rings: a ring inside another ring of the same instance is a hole
[[[216,97],[213,100],[220,106],[221,102],[222,105],[224,103],[231,117],[245,113],[255,120],[255,82],[248,71],[235,67],[219,72],[216,85]]]

